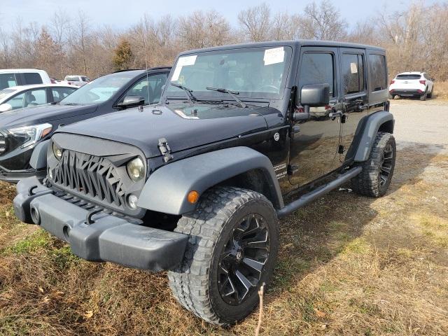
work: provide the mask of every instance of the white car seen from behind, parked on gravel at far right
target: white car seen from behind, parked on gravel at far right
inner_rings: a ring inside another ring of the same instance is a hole
[[[402,72],[398,73],[389,85],[389,98],[398,97],[433,97],[434,83],[426,72]]]

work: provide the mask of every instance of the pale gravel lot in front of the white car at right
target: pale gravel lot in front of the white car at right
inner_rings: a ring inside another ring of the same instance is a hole
[[[426,144],[437,153],[448,153],[448,101],[394,100],[391,112],[399,148]]]

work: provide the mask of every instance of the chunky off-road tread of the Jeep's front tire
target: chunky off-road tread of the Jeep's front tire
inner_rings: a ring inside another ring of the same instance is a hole
[[[235,209],[252,200],[262,200],[272,207],[265,196],[251,190],[211,188],[202,195],[197,209],[188,216],[182,216],[174,230],[190,235],[190,239],[182,264],[168,272],[169,287],[183,307],[209,323],[230,324],[217,316],[208,295],[208,272],[214,246]]]

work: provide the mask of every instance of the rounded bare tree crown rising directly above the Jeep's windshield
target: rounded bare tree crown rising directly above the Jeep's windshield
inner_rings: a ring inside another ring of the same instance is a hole
[[[238,21],[243,34],[249,41],[260,42],[269,39],[271,10],[266,3],[241,10]]]

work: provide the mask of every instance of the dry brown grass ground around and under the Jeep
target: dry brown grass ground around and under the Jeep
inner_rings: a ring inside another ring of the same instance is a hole
[[[281,221],[260,335],[448,334],[448,207],[430,202],[447,195],[448,184],[428,181],[426,165],[446,169],[446,160],[424,148],[401,151],[388,196],[335,192]],[[0,188],[0,335],[255,332],[256,311],[217,328],[176,303],[166,274],[74,257],[19,224],[11,188]]]

